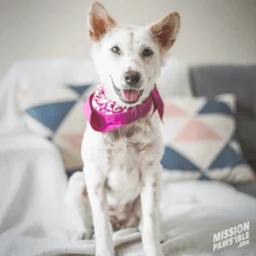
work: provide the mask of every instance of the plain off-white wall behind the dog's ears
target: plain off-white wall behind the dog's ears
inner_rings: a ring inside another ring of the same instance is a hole
[[[89,56],[90,0],[0,0],[0,79],[20,58]],[[102,0],[119,23],[178,11],[172,55],[189,63],[256,63],[256,0]]]

